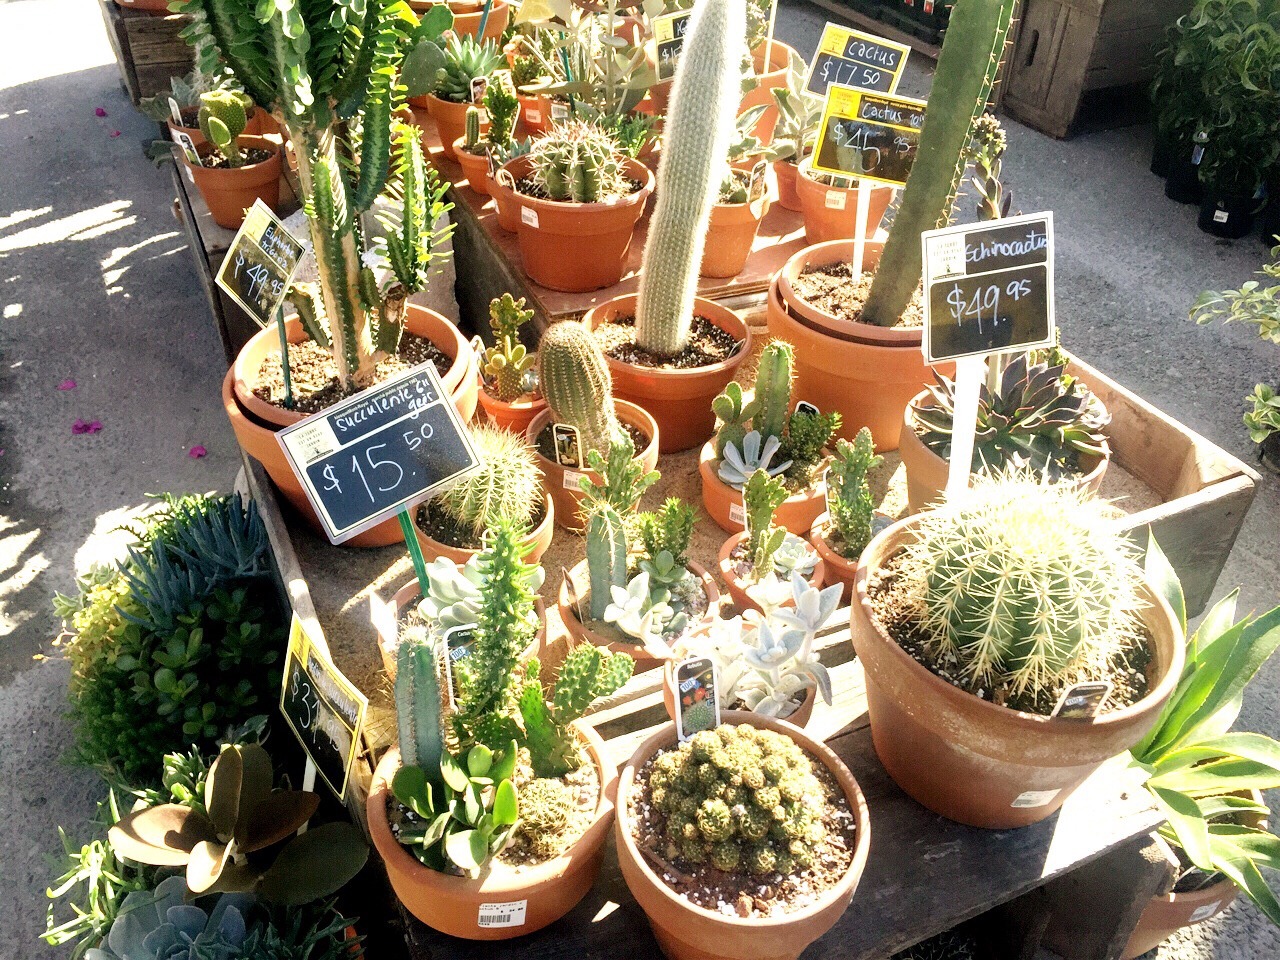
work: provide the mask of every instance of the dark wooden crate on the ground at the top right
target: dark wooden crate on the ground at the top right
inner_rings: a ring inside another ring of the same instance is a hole
[[[1166,28],[1190,6],[1192,0],[1023,0],[1005,110],[1065,137],[1085,93],[1142,87],[1132,95],[1144,97]]]

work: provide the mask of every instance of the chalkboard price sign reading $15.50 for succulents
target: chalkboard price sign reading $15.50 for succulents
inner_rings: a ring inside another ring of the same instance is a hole
[[[276,438],[333,543],[443,492],[480,466],[430,361]]]

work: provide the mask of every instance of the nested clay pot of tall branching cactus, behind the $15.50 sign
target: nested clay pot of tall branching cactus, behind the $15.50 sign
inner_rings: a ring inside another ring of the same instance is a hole
[[[440,375],[443,387],[453,397],[453,404],[463,421],[475,412],[476,370],[475,355],[457,328],[433,310],[411,303],[406,315],[406,329],[410,333],[429,338],[445,355],[453,357],[453,365]],[[289,343],[302,343],[307,339],[302,321],[296,316],[285,320],[285,334]],[[303,419],[302,413],[276,407],[253,396],[251,383],[262,362],[270,356],[279,357],[279,332],[271,326],[256,333],[246,343],[236,364],[227,371],[223,380],[223,410],[230,420],[232,430],[241,448],[262,465],[268,476],[280,489],[289,503],[320,530],[311,502],[298,483],[284,452],[275,438],[276,430]],[[404,539],[399,521],[394,517],[362,534],[347,540],[344,547],[385,547],[402,543]]]

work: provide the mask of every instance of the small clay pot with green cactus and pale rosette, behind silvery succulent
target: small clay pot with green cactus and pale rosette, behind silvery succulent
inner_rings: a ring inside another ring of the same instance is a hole
[[[740,611],[764,612],[791,602],[791,579],[822,586],[826,564],[809,544],[774,513],[787,498],[782,480],[758,468],[742,485],[746,530],[733,534],[719,552],[721,579]]]

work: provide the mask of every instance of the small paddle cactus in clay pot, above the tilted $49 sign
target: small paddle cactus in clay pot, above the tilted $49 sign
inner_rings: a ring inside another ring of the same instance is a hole
[[[200,163],[178,152],[214,223],[230,230],[244,223],[244,211],[255,200],[273,210],[280,202],[280,147],[244,133],[253,109],[252,100],[233,90],[201,93]]]

